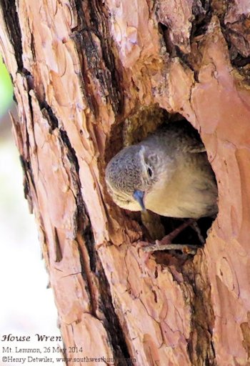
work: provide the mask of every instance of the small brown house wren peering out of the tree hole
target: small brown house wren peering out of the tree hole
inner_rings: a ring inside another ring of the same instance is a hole
[[[188,122],[169,122],[122,149],[107,164],[106,184],[114,202],[131,211],[193,219],[217,212],[214,172]]]

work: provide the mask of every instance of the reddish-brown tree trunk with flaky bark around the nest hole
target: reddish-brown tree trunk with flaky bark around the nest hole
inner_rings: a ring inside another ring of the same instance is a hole
[[[66,357],[250,365],[250,9],[226,3],[1,1],[24,191]],[[139,214],[112,202],[104,169],[165,112],[199,130],[219,214],[194,257],[145,264]]]

